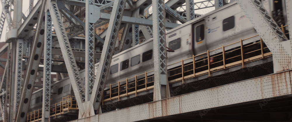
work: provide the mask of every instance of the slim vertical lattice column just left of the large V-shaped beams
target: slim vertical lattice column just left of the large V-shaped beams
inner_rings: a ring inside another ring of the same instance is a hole
[[[43,81],[43,107],[42,122],[50,122],[51,107],[51,65],[52,65],[52,18],[49,11],[45,15],[45,34],[44,43],[44,81]]]

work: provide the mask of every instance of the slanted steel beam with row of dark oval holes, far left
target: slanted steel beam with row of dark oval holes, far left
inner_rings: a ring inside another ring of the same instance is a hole
[[[44,50],[44,5],[46,0],[39,1],[41,2],[39,17],[37,19],[37,25],[35,30],[35,35],[32,41],[32,50],[27,64],[27,72],[25,75],[21,97],[19,101],[19,107],[16,114],[16,120],[18,122],[25,122],[26,115],[29,108],[32,90],[34,87],[34,81],[36,78],[36,72],[38,72],[39,62],[41,60],[41,55]]]

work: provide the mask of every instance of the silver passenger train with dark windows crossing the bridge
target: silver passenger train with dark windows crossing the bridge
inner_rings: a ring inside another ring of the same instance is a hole
[[[265,0],[263,2],[266,2],[266,4],[263,5],[269,13],[274,11],[272,9],[273,7],[271,7],[271,4],[273,3],[272,0]],[[228,45],[237,42],[240,39],[246,39],[255,35],[258,35],[258,33],[239,5],[236,2],[229,3],[217,10],[211,11],[195,18],[194,20],[190,20],[189,22],[168,30],[166,32],[166,46],[171,50],[174,50],[174,52],[167,52],[167,64],[173,64],[181,61],[181,59],[192,57],[192,55],[199,55],[207,50],[213,50],[222,45]],[[244,40],[243,43],[246,45],[258,42],[259,40],[260,37],[257,36],[255,38]],[[240,47],[240,45],[235,44],[225,48],[225,50],[231,50],[238,47]],[[113,55],[106,86],[138,74],[152,71],[154,69],[153,53],[153,39],[149,39]],[[217,53],[210,53],[210,55],[217,55]],[[232,56],[233,54],[230,53],[228,55]],[[203,60],[206,59],[206,57],[207,55],[202,55],[201,57],[196,57],[195,60]],[[205,65],[205,63],[206,62],[201,62],[201,64],[198,63],[196,65]],[[167,69],[174,69],[178,66],[179,65],[172,65],[167,67]],[[98,63],[95,64],[95,69],[97,69],[97,67]],[[85,78],[84,73],[84,70],[80,71],[80,76],[83,77],[83,81]],[[170,74],[171,72],[169,72],[169,75]],[[106,89],[109,88],[106,87],[105,90]],[[62,97],[67,95],[74,96],[68,77],[51,85],[51,104],[60,102]],[[42,89],[39,89],[32,94],[29,111],[34,111],[41,107]]]

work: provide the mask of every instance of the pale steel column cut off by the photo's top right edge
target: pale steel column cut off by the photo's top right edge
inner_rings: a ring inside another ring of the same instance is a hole
[[[286,9],[287,9],[287,23],[289,30],[289,38],[292,39],[292,0],[286,0]]]

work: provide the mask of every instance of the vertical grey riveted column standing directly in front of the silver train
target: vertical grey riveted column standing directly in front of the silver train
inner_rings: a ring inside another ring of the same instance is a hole
[[[166,64],[164,0],[152,0],[154,93],[153,101],[169,97]]]

